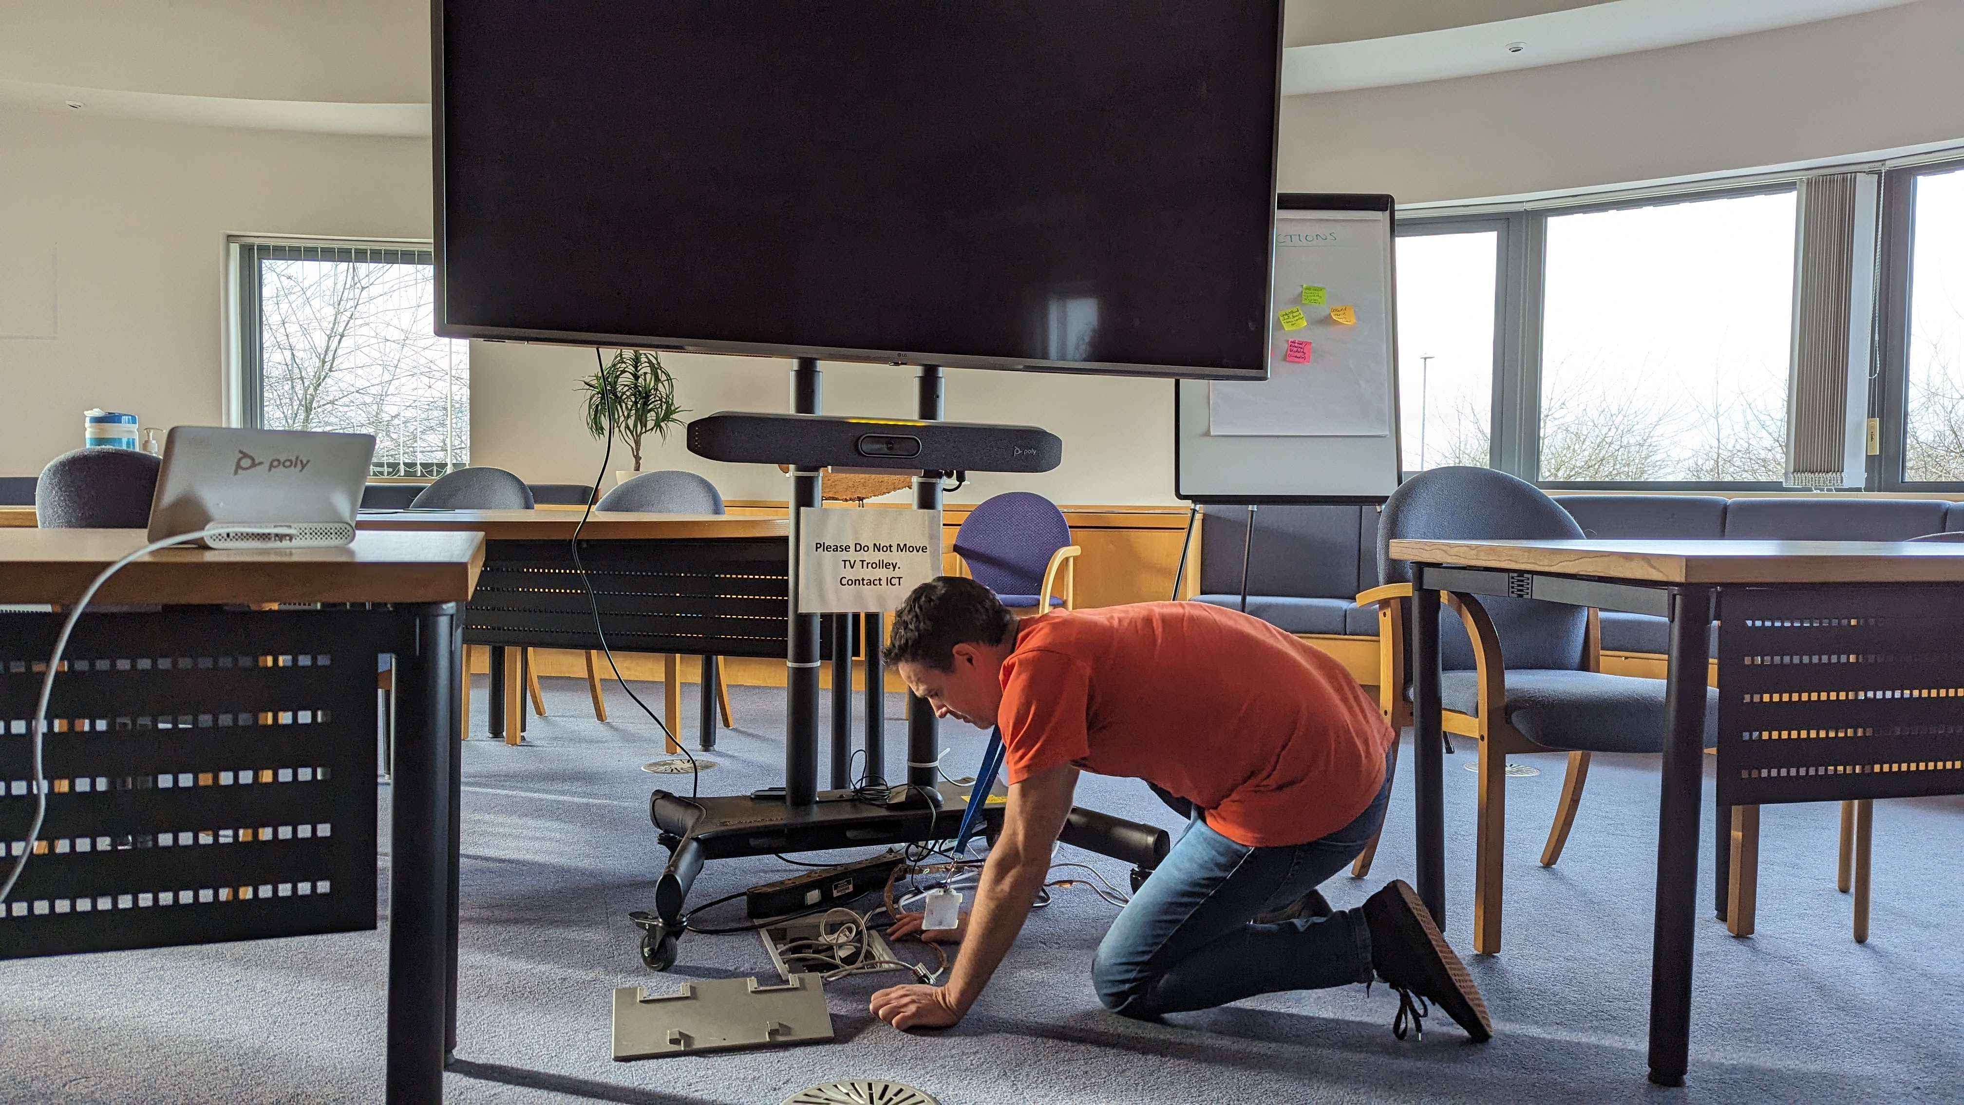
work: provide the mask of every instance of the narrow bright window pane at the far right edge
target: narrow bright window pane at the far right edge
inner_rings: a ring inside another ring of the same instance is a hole
[[[1911,189],[1903,478],[1964,482],[1964,169]]]

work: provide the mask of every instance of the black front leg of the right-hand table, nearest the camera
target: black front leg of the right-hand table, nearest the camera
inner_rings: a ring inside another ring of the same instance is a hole
[[[1658,918],[1650,952],[1650,1081],[1658,1085],[1683,1085],[1691,1054],[1691,942],[1699,889],[1711,600],[1707,588],[1671,592],[1669,731],[1658,798]]]

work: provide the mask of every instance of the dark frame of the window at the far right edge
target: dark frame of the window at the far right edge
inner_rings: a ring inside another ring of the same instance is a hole
[[[1868,413],[1878,421],[1878,446],[1868,462],[1872,492],[1964,492],[1964,480],[1909,480],[1909,324],[1911,265],[1917,240],[1917,181],[1964,169],[1964,157],[1883,167],[1882,171],[1882,250],[1876,328],[1878,364],[1870,374]]]

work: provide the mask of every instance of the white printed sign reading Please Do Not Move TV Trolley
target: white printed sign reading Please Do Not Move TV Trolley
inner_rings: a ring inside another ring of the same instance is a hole
[[[892,611],[941,574],[941,511],[803,507],[797,613]]]

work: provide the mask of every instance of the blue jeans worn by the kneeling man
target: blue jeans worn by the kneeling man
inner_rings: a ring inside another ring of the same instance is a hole
[[[1125,1017],[1212,1009],[1257,993],[1371,981],[1363,910],[1255,924],[1336,875],[1385,820],[1377,798],[1337,832],[1288,847],[1247,847],[1198,816],[1098,944],[1098,1001]]]

